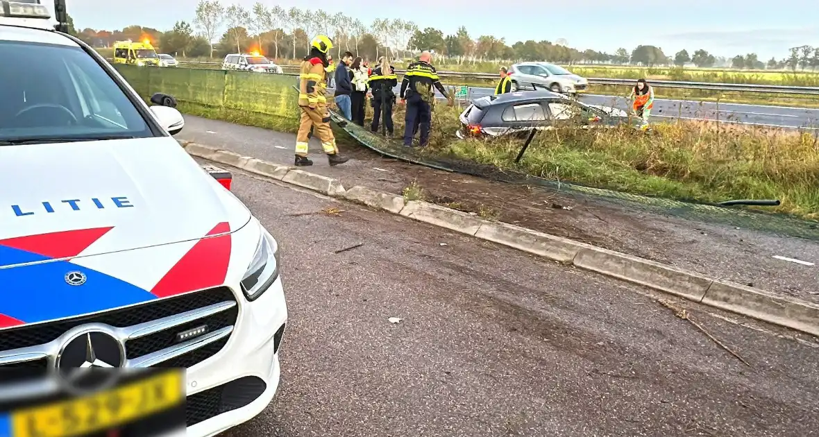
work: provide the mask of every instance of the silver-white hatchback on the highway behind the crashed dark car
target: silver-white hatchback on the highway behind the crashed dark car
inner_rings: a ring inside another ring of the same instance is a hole
[[[509,74],[513,91],[546,88],[551,92],[577,95],[589,88],[588,79],[549,62],[519,62],[509,68]]]

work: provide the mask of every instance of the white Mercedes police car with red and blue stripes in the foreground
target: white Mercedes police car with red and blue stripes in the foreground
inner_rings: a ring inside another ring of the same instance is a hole
[[[171,137],[178,110],[33,1],[0,2],[0,372],[183,367],[188,436],[255,417],[287,322],[276,241]]]

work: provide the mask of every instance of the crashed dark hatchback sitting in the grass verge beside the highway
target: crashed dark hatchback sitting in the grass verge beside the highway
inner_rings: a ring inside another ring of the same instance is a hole
[[[611,128],[619,124],[640,127],[637,117],[609,106],[587,105],[557,92],[537,90],[486,96],[472,101],[460,115],[456,135],[500,137],[528,133],[532,129],[550,130],[561,124],[582,128]]]

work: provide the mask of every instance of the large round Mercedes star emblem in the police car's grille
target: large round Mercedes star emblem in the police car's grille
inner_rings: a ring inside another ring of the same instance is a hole
[[[70,394],[105,390],[114,385],[125,364],[125,347],[102,328],[71,336],[54,362],[57,377]]]

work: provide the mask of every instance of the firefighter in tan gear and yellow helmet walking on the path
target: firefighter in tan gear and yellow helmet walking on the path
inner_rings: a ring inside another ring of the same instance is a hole
[[[327,109],[327,98],[324,90],[327,83],[324,81],[324,69],[328,67],[327,54],[333,48],[333,41],[325,35],[319,35],[310,42],[310,55],[301,61],[299,74],[299,108],[301,122],[299,133],[296,135],[296,165],[313,165],[307,159],[307,145],[310,141],[310,128],[321,141],[321,147],[327,154],[330,165],[343,164],[348,159],[338,155],[336,138],[330,128],[330,113]]]

